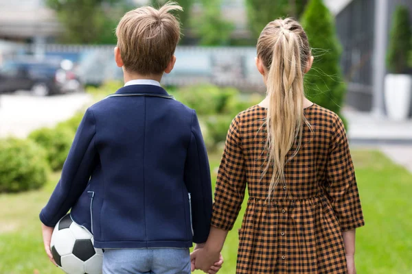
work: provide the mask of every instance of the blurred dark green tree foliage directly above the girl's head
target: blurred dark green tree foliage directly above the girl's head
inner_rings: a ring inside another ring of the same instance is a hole
[[[280,17],[300,18],[308,0],[246,0],[249,25],[254,38],[262,29]]]

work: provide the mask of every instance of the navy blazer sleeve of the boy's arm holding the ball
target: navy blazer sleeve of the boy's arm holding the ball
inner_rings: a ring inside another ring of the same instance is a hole
[[[92,110],[88,109],[63,165],[60,181],[47,205],[41,210],[40,219],[45,225],[54,227],[86,188],[95,164],[95,133],[95,118]]]

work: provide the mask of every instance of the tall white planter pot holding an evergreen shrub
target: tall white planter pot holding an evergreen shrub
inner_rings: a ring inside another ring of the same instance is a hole
[[[411,108],[412,76],[407,74],[388,74],[385,77],[385,105],[390,119],[408,119]]]

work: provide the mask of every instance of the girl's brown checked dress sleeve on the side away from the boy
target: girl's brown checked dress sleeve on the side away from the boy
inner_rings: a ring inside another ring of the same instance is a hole
[[[336,116],[328,154],[326,192],[342,231],[365,225],[345,127]]]

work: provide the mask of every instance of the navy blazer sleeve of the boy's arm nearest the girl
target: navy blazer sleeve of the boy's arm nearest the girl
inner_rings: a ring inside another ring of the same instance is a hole
[[[206,242],[211,221],[211,180],[209,160],[196,112],[192,114],[190,144],[184,180],[192,197],[193,242]]]

